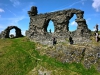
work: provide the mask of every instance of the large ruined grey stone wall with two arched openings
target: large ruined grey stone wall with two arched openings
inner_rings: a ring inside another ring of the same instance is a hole
[[[91,31],[88,29],[86,20],[83,18],[84,11],[78,9],[61,10],[51,13],[37,14],[37,7],[32,6],[31,10],[28,11],[30,17],[29,30],[26,31],[26,36],[30,40],[39,41],[40,43],[47,44],[53,37],[57,39],[65,40],[72,36],[74,43],[78,41],[88,42]],[[75,20],[78,24],[77,30],[69,31],[69,20],[76,14],[77,19]],[[52,20],[54,23],[54,33],[48,33],[47,27],[49,21]],[[86,40],[86,41],[85,41]]]

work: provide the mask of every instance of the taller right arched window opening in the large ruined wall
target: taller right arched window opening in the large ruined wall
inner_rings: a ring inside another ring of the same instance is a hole
[[[77,30],[77,22],[75,22],[75,19],[77,19],[76,15],[69,20],[69,31],[75,31]]]

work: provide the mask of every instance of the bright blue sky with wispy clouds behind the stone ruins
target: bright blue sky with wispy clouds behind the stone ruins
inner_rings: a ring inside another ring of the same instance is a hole
[[[100,0],[0,0],[0,32],[7,26],[15,25],[21,28],[22,33],[29,29],[29,15],[31,6],[37,6],[38,14],[58,10],[76,8],[84,11],[88,28],[94,30],[100,25]],[[69,29],[77,28],[76,15],[70,20]],[[53,31],[53,22],[49,22],[48,30]],[[99,26],[100,30],[100,26]],[[14,30],[11,30],[14,33]]]

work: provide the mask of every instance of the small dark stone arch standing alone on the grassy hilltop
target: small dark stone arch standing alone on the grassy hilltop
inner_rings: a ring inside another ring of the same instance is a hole
[[[1,32],[0,38],[9,38],[9,33],[11,29],[15,29],[16,36],[15,37],[22,37],[23,35],[21,34],[21,29],[18,28],[17,26],[8,26],[4,31]]]

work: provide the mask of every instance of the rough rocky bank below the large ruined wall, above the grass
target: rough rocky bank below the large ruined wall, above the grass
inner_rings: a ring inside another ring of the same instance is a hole
[[[62,45],[37,46],[36,50],[63,63],[82,63],[87,69],[96,65],[100,72],[100,47],[93,45]]]

